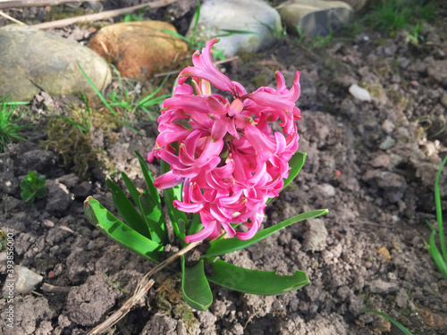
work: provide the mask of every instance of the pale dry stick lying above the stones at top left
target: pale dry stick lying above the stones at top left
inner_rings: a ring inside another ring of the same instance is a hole
[[[153,3],[148,3],[148,4],[137,4],[135,6],[126,7],[126,8],[122,8],[122,9],[115,9],[113,11],[106,11],[106,12],[102,12],[102,13],[82,15],[82,16],[77,16],[74,18],[63,19],[63,20],[38,23],[38,24],[33,25],[32,27],[36,27],[38,29],[61,28],[61,27],[66,27],[73,23],[81,22],[81,21],[99,21],[99,20],[110,19],[115,16],[122,15],[125,13],[131,13],[131,12],[137,11],[137,10],[139,10],[141,8],[145,8],[145,7],[148,7],[148,9],[159,8],[159,7],[168,5],[168,4],[176,3],[178,1],[179,0],[160,0],[160,1],[155,1]]]

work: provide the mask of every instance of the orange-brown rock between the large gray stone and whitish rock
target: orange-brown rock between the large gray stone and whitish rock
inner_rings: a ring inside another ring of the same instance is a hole
[[[122,77],[150,77],[159,68],[176,63],[188,46],[180,38],[161,31],[177,32],[163,21],[122,22],[100,29],[88,46],[114,63]]]

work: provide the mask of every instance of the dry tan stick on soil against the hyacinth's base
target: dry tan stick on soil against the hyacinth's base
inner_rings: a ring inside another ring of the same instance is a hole
[[[118,309],[114,314],[110,315],[109,318],[105,320],[105,322],[102,322],[97,327],[95,327],[93,330],[89,331],[89,335],[97,335],[101,334],[105,331],[108,331],[116,322],[119,322],[126,314],[128,314],[131,311],[131,308],[141,299],[142,297],[146,296],[146,293],[148,293],[148,290],[154,285],[155,281],[150,280],[145,283],[145,281],[152,275],[154,275],[156,272],[159,272],[162,270],[165,266],[173,263],[177,258],[179,258],[181,255],[186,254],[188,251],[192,250],[194,247],[197,247],[200,245],[202,241],[199,242],[193,242],[190,243],[188,246],[183,247],[181,250],[176,252],[174,255],[166,259],[164,262],[156,265],[154,269],[146,273],[146,275],[141,278],[139,281],[139,284],[137,285],[137,289],[133,292],[133,296],[129,298],[121,307]]]

